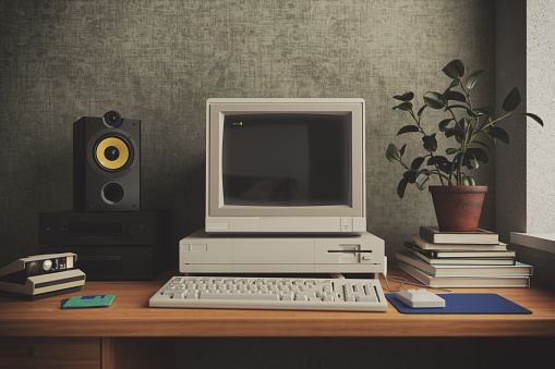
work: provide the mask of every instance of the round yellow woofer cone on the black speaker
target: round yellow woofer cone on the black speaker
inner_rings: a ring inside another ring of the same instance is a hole
[[[95,145],[93,157],[105,171],[123,171],[133,161],[133,146],[121,135],[100,137]]]

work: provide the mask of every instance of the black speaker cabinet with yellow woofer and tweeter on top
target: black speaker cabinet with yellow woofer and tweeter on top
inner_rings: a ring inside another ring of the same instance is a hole
[[[141,121],[116,111],[73,123],[73,208],[141,209]]]

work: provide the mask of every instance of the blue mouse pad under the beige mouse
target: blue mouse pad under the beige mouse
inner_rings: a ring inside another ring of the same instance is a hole
[[[532,313],[531,310],[496,294],[438,294],[444,308],[413,309],[402,304],[395,294],[386,298],[402,313]]]

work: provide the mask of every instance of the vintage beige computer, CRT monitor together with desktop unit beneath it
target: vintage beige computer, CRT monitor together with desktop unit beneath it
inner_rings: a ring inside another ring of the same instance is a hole
[[[180,272],[385,271],[366,232],[363,99],[208,99],[206,221]]]

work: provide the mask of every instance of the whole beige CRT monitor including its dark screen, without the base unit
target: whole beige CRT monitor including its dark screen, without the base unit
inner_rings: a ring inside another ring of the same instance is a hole
[[[366,231],[364,100],[208,99],[208,234]]]

